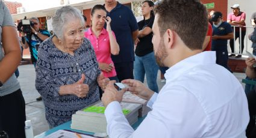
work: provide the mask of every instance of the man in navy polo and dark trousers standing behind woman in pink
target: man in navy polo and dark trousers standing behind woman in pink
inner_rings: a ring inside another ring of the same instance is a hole
[[[139,34],[133,11],[116,0],[105,0],[104,4],[111,17],[111,29],[120,47],[119,55],[112,55],[119,81],[133,79],[134,40]]]

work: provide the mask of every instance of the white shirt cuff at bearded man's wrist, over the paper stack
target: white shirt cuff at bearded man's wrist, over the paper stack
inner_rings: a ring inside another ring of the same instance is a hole
[[[113,118],[113,116],[116,115],[116,113],[122,113],[122,108],[118,101],[112,101],[108,104],[104,112],[107,121]]]

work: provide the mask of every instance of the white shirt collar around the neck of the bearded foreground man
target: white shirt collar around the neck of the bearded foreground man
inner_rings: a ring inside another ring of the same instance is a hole
[[[215,64],[216,63],[216,52],[206,51],[196,55],[190,56],[189,58],[183,59],[170,67],[164,77],[166,82],[178,79],[183,73],[191,71],[193,67],[202,64]]]

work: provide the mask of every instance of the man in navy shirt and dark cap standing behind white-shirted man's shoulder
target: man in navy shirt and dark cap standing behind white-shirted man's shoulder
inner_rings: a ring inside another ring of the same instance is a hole
[[[213,22],[213,38],[211,42],[211,50],[216,51],[216,64],[222,65],[229,71],[228,67],[228,40],[233,39],[233,31],[231,25],[222,21],[222,13],[216,11],[211,17]],[[232,72],[232,71],[231,71]]]

